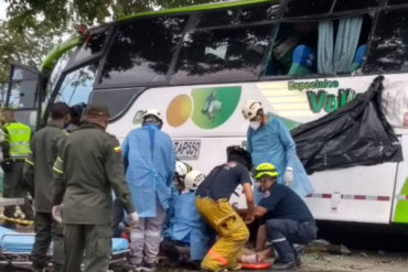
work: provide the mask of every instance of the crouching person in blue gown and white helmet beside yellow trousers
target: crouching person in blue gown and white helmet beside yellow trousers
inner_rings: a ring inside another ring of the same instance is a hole
[[[195,191],[205,175],[192,170],[184,174],[182,162],[176,163],[179,194],[170,200],[168,227],[163,231],[162,249],[178,264],[200,269],[200,263],[208,251],[211,236],[194,204]],[[179,172],[178,172],[179,171]],[[175,179],[175,178],[174,178]]]

